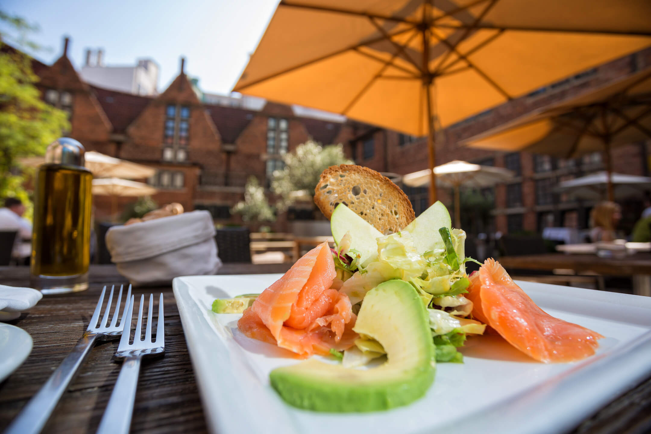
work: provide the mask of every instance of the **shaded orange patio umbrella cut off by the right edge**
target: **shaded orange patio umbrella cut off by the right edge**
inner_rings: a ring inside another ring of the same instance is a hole
[[[651,68],[462,142],[472,148],[526,150],[559,158],[602,151],[607,198],[615,200],[611,148],[651,139]]]

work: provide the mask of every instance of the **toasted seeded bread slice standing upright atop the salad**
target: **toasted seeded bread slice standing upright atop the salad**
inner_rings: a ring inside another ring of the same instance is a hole
[[[314,189],[314,203],[330,219],[339,204],[348,206],[383,234],[398,232],[415,218],[398,185],[368,167],[331,166]]]

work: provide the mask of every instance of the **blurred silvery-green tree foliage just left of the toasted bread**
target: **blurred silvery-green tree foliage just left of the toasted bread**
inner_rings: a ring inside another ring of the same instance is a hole
[[[321,172],[328,167],[353,163],[344,155],[341,144],[321,146],[314,141],[300,144],[294,152],[286,154],[283,161],[284,169],[273,172],[271,178],[271,191],[280,197],[279,210],[286,209],[293,202],[296,192],[313,197]]]

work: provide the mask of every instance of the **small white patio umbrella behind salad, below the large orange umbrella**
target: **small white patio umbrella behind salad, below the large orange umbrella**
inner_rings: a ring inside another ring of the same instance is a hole
[[[419,170],[402,177],[402,183],[409,187],[424,187],[430,184],[430,169]],[[511,170],[502,167],[482,166],[468,163],[467,161],[450,161],[434,167],[436,183],[441,187],[454,188],[454,226],[461,228],[460,194],[462,187],[492,187],[501,182],[508,182],[513,178]]]

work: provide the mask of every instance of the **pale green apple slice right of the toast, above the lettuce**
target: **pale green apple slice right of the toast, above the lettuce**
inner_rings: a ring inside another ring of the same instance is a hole
[[[439,234],[439,229],[443,227],[451,229],[452,220],[445,205],[438,200],[409,223],[404,231],[411,234],[416,250],[423,254],[435,249],[445,249],[443,238]]]

